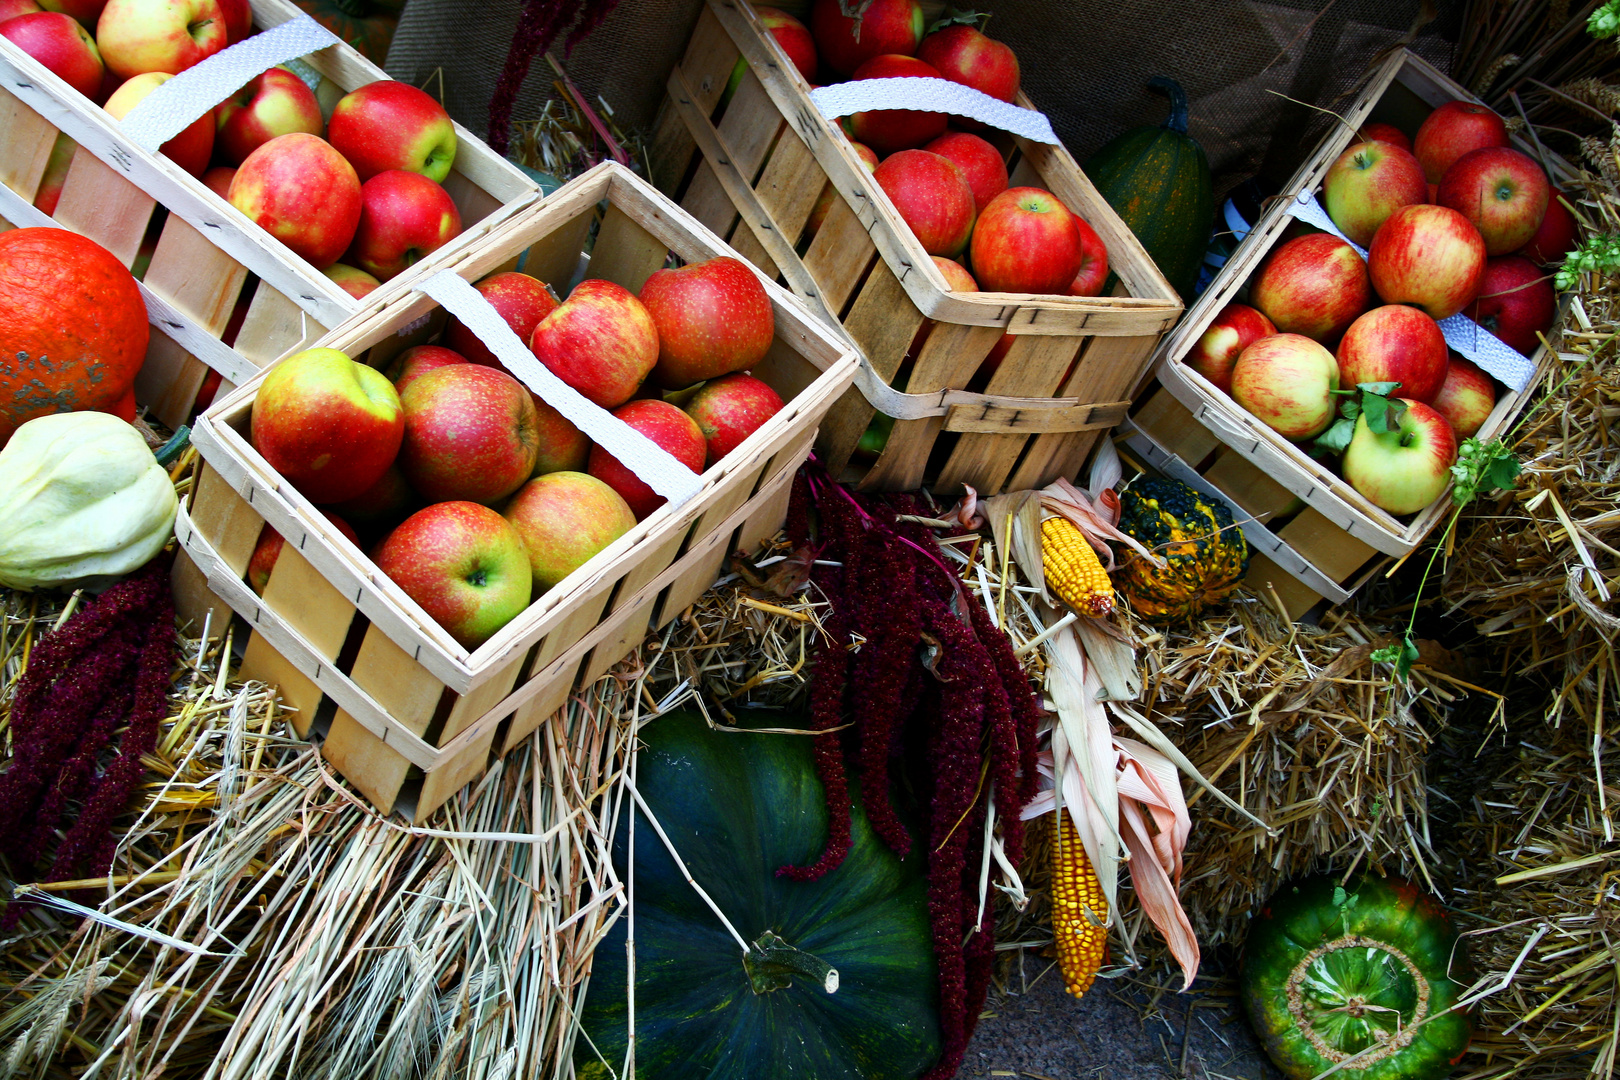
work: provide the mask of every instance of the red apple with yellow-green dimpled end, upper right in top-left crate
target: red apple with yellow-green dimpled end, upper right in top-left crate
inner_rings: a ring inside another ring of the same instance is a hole
[[[389,168],[444,183],[455,164],[455,125],[426,91],[379,79],[350,91],[332,108],[326,138],[361,180]]]

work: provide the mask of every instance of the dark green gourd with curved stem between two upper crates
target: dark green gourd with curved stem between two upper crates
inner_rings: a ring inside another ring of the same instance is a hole
[[[1183,300],[1191,300],[1215,222],[1210,159],[1187,134],[1181,86],[1165,76],[1149,86],[1170,96],[1170,118],[1103,146],[1085,162],[1085,175]]]

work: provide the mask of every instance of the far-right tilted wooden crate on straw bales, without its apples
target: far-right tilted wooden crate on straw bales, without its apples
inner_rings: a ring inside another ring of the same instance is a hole
[[[1452,507],[1450,487],[1427,508],[1406,520],[1372,505],[1345,478],[1288,442],[1238,406],[1186,363],[1192,345],[1231,301],[1247,288],[1265,256],[1291,225],[1291,199],[1302,191],[1320,193],[1322,176],[1369,121],[1393,123],[1416,131],[1422,118],[1448,100],[1477,100],[1424,60],[1401,50],[1374,71],[1369,84],[1338,125],[1299,168],[1254,232],[1238,246],[1210,288],[1165,342],[1155,379],[1137,395],[1123,434],[1147,465],[1225,495],[1254,544],[1256,563],[1270,575],[1285,607],[1294,617],[1320,601],[1338,604],[1361,588],[1390,559],[1416,549]],[[1515,139],[1520,149],[1541,159],[1536,147]],[[1570,176],[1568,165],[1547,157],[1554,183]],[[1531,358],[1544,371],[1545,347]],[[1479,431],[1489,440],[1508,429],[1529,405],[1533,379],[1523,392],[1503,389],[1497,406]]]

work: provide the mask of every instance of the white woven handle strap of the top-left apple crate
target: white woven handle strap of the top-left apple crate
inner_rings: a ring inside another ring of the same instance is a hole
[[[147,94],[118,126],[131,142],[147,154],[156,154],[157,147],[190,128],[198,117],[246,86],[254,76],[337,44],[340,44],[337,36],[308,15],[287,19],[186,68]]]

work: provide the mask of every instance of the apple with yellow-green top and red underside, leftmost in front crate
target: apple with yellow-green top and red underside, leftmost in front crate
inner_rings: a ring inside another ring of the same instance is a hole
[[[309,502],[343,502],[371,487],[403,436],[394,384],[335,348],[280,361],[253,398],[253,449]]]

